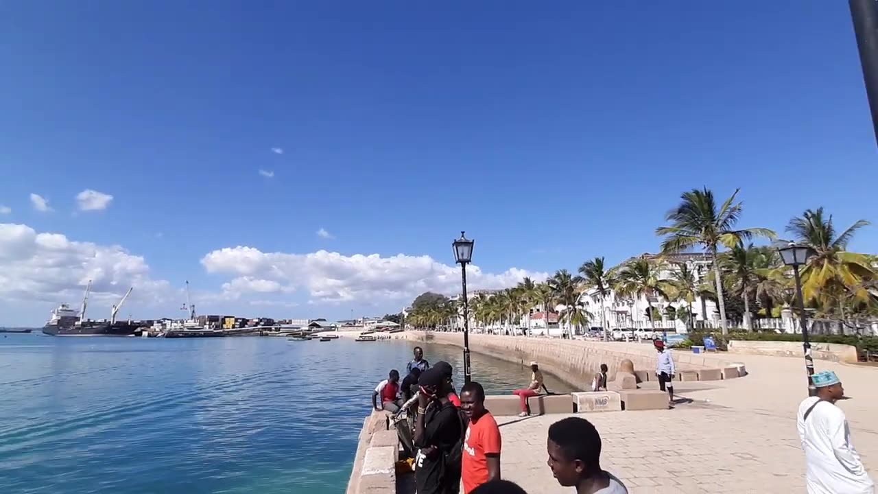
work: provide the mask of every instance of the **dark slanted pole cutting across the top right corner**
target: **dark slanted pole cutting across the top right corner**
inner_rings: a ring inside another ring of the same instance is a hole
[[[853,20],[853,33],[857,36],[860,65],[866,96],[872,113],[875,142],[878,143],[878,2],[875,0],[848,0]]]

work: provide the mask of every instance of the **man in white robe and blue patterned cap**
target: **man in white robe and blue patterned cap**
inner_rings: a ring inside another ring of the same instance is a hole
[[[836,402],[845,396],[831,371],[811,376],[817,396],[799,405],[796,427],[805,451],[805,484],[809,494],[871,494],[874,483],[853,447],[845,412]]]

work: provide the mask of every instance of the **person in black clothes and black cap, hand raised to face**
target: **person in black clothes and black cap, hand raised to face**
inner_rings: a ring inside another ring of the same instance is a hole
[[[418,494],[457,494],[464,425],[450,402],[450,383],[441,369],[421,373],[414,425],[414,483]]]

